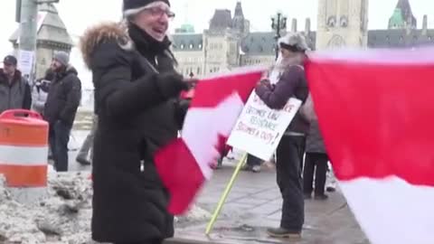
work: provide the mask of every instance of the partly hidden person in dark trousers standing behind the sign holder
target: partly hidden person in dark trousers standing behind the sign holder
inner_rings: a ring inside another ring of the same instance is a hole
[[[325,151],[325,145],[321,131],[319,130],[318,118],[316,117],[314,104],[309,96],[307,105],[311,107],[309,110],[310,121],[309,133],[306,140],[306,162],[303,170],[303,192],[305,199],[312,198],[312,187],[314,182],[315,172],[315,199],[326,200],[328,196],[325,194],[325,180],[328,166],[328,155]]]

